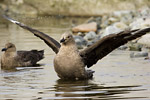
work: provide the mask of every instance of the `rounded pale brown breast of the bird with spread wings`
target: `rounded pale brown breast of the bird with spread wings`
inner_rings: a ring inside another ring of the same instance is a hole
[[[59,74],[70,73],[80,71],[84,68],[84,64],[81,57],[76,53],[61,54],[58,53],[54,59],[55,71]]]

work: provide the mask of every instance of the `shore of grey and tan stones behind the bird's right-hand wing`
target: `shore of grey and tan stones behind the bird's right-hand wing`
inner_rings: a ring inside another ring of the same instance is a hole
[[[79,49],[92,45],[97,40],[109,34],[123,30],[142,29],[150,27],[150,9],[140,11],[115,11],[102,17],[91,17],[85,23],[74,26],[72,32]],[[148,57],[150,34],[119,47],[120,50],[131,50],[130,57]],[[138,52],[137,52],[138,51]]]

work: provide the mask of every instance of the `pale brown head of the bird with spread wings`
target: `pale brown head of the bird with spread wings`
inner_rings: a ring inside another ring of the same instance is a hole
[[[75,43],[74,38],[70,32],[65,32],[60,39],[60,43],[62,44],[69,44],[69,43]]]

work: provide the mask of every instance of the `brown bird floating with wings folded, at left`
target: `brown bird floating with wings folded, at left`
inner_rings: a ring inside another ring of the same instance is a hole
[[[1,57],[2,69],[34,66],[44,58],[44,50],[16,51],[16,47],[12,43],[7,43],[2,51],[4,51]]]

